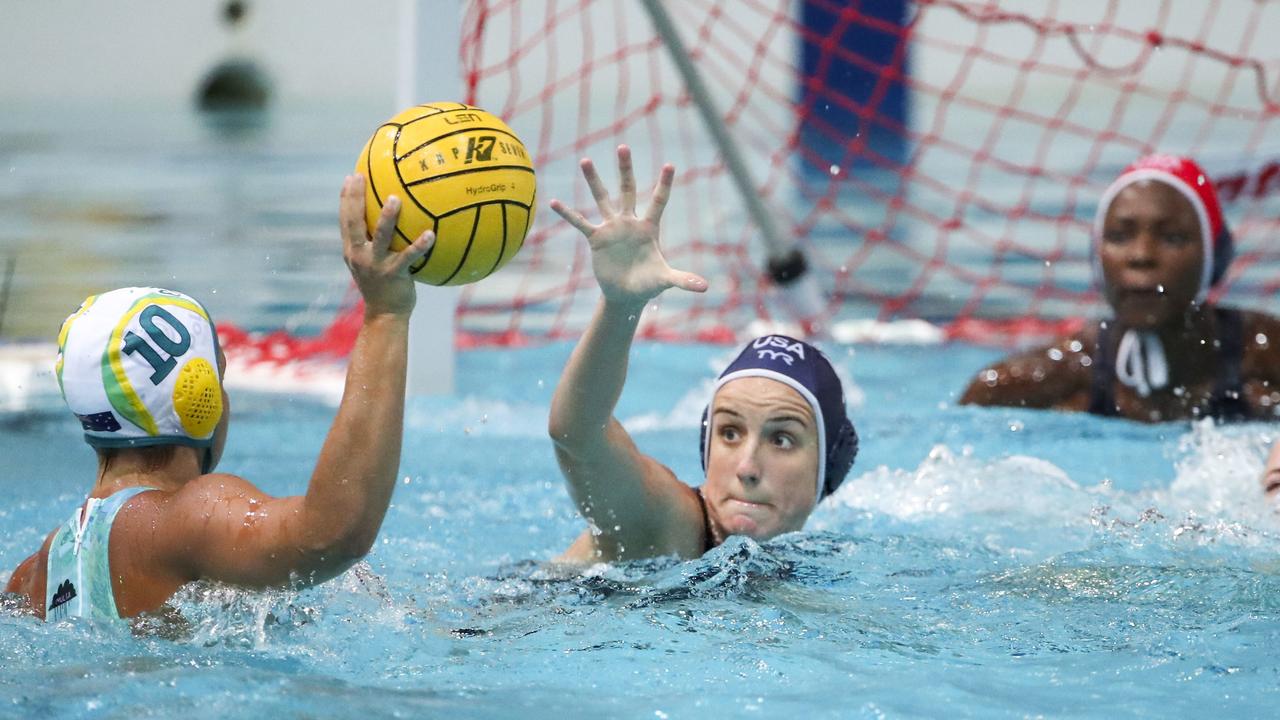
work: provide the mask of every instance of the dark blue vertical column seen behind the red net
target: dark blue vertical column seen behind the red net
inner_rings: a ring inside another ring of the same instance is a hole
[[[803,0],[799,159],[805,170],[908,158],[906,0]]]

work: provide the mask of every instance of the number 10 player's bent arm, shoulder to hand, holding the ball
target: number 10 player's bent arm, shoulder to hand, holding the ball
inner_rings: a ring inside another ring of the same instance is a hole
[[[248,587],[312,584],[364,557],[374,544],[399,470],[415,287],[408,265],[431,245],[424,234],[389,249],[398,202],[388,201],[370,238],[365,182],[343,184],[343,255],[365,300],[333,427],[305,496],[270,497],[234,475],[204,475],[174,493],[152,547],[191,579]],[[145,496],[142,496],[145,497]]]

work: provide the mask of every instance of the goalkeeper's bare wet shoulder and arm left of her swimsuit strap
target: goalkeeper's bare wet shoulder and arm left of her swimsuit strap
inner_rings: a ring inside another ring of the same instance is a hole
[[[988,365],[965,388],[961,405],[1088,410],[1088,338],[1066,338]]]

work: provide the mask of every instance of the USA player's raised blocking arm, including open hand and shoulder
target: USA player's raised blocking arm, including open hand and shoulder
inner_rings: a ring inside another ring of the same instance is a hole
[[[604,297],[561,375],[548,432],[570,495],[598,534],[579,538],[564,560],[696,555],[701,552],[696,497],[669,469],[640,452],[613,418],[645,305],[669,287],[707,290],[701,277],[672,269],[659,247],[658,225],[675,169],[663,167],[648,210],[637,217],[626,146],[618,147],[617,208],[591,161],[582,160],[581,168],[602,223],[589,223],[558,200],[550,206],[586,236],[591,269]]]

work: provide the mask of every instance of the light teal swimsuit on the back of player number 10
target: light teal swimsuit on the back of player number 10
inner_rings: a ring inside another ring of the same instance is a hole
[[[108,543],[115,514],[138,493],[156,488],[124,488],[99,500],[91,497],[58,528],[49,546],[49,575],[45,578],[45,619],[118,619],[111,591]]]

